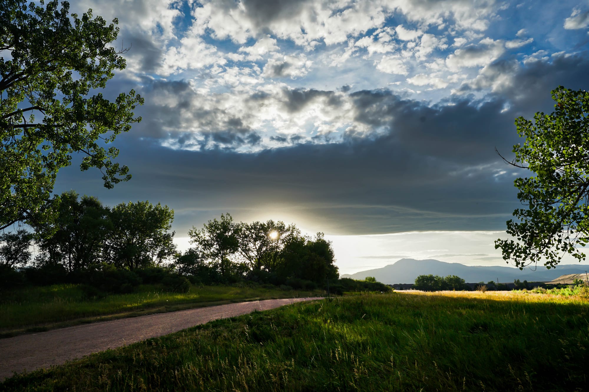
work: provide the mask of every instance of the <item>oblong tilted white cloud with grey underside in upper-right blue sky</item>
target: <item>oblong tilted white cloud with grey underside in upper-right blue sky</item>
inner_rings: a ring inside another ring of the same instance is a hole
[[[468,45],[456,51],[446,58],[446,65],[453,71],[459,71],[464,67],[485,66],[498,59],[505,52],[501,40],[494,41],[491,38],[482,39],[478,45]]]

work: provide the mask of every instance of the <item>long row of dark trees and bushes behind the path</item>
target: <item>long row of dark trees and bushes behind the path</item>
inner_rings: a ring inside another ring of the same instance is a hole
[[[322,233],[303,235],[293,224],[234,222],[221,214],[193,227],[191,247],[179,253],[170,231],[174,211],[167,205],[138,201],[110,208],[75,191],[56,200],[52,224],[0,235],[0,285],[86,283],[128,292],[141,283],[164,282],[183,291],[188,281],[249,281],[305,290],[331,285],[334,293],[388,290],[380,283],[339,280],[330,242]]]

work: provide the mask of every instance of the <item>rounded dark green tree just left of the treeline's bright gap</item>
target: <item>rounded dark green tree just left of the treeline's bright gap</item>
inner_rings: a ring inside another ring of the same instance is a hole
[[[174,210],[160,203],[137,201],[115,205],[111,210],[112,231],[107,253],[117,267],[159,265],[176,255],[171,230]]]

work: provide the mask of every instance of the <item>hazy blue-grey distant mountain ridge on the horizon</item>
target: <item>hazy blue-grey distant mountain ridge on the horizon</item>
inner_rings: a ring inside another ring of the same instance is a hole
[[[524,268],[523,271],[513,267],[483,267],[469,266],[459,263],[445,263],[438,260],[413,260],[412,258],[402,258],[394,264],[386,267],[376,268],[375,270],[362,271],[355,274],[343,274],[342,278],[352,278],[363,280],[367,276],[373,276],[379,282],[385,284],[395,283],[413,283],[419,275],[458,275],[467,283],[485,283],[492,280],[499,283],[513,283],[515,279],[529,282],[547,282],[554,280],[561,275],[580,274],[589,269],[589,265],[581,264],[579,267],[574,265],[558,266],[547,270],[543,265],[539,265],[534,271],[530,268]]]

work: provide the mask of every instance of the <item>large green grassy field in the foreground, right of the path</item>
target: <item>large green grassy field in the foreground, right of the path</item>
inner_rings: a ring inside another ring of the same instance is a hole
[[[586,390],[589,303],[391,293],[218,320],[12,377],[0,390]]]

